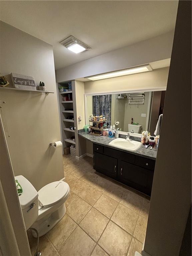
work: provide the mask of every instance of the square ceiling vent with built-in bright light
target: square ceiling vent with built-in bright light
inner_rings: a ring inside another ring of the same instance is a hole
[[[62,44],[64,47],[74,53],[83,53],[91,49],[91,47],[79,41],[73,36],[67,37],[66,39],[61,41],[60,44]]]

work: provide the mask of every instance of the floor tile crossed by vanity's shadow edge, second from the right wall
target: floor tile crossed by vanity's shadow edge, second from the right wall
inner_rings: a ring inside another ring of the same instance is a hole
[[[131,210],[140,213],[143,198],[136,195],[135,193],[127,191],[127,193],[123,195],[120,203],[130,208]]]

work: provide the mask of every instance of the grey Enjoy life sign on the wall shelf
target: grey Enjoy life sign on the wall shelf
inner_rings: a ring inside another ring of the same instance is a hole
[[[11,73],[13,86],[17,89],[36,90],[34,77]]]

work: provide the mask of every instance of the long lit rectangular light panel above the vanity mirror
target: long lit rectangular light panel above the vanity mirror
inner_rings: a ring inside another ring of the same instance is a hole
[[[142,73],[142,72],[147,72],[147,71],[152,71],[152,67],[150,64],[146,64],[145,66],[137,66],[137,67],[132,67],[129,69],[123,69],[123,70],[118,70],[110,73],[105,73],[105,74],[100,74],[96,76],[89,76],[89,77],[84,77],[87,79],[90,79],[92,81],[95,80],[101,80],[101,79],[107,79],[107,78],[112,78],[112,77],[117,77],[117,76],[126,76],[126,75],[132,75],[136,73]]]

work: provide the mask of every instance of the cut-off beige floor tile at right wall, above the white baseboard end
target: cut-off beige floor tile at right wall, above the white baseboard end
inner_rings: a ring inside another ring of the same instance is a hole
[[[139,215],[133,236],[137,240],[139,240],[141,243],[144,243],[146,229],[147,229],[147,219]]]

